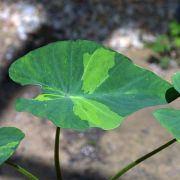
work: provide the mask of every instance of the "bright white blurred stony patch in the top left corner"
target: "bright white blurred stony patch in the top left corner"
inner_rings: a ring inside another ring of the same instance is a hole
[[[28,33],[37,30],[45,22],[43,8],[19,2],[10,6],[4,5],[0,20],[12,24],[21,40],[26,40]]]

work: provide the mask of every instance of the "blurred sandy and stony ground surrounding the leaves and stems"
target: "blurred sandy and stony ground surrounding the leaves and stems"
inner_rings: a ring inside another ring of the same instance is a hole
[[[46,119],[15,112],[18,97],[34,97],[37,87],[20,87],[8,78],[18,57],[50,42],[89,39],[130,57],[171,81],[180,70],[179,0],[0,0],[0,126],[26,134],[12,157],[43,180],[55,179],[55,127]],[[164,107],[164,106],[163,106]],[[168,107],[180,108],[177,99]],[[105,180],[118,169],[172,137],[152,117],[158,107],[131,115],[113,131],[61,132],[65,180]],[[125,174],[122,180],[179,180],[177,143]],[[25,179],[0,167],[0,179]]]

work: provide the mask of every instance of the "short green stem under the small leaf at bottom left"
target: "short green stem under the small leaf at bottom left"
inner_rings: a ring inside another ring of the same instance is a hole
[[[37,177],[35,177],[34,175],[32,175],[29,171],[25,170],[25,169],[22,168],[21,166],[16,165],[16,164],[12,163],[12,162],[9,161],[9,160],[7,160],[5,163],[6,163],[7,165],[15,168],[17,171],[19,171],[21,174],[23,174],[24,176],[26,176],[28,179],[38,180]]]

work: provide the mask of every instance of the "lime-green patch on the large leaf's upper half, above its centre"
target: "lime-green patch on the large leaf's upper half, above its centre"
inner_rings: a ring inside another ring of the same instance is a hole
[[[84,56],[84,73],[82,89],[85,93],[93,91],[108,78],[108,71],[115,65],[115,52],[97,49],[92,55]]]

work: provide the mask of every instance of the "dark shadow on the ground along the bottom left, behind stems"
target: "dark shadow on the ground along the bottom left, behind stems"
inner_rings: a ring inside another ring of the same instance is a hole
[[[15,156],[12,160],[16,164],[22,166],[25,169],[28,169],[33,175],[37,176],[39,179],[56,179],[54,166],[50,166],[44,164],[40,160],[36,160],[36,158],[31,157],[18,157]],[[76,172],[68,169],[63,169],[63,177],[64,180],[105,180],[107,177],[100,175],[99,172],[91,172],[91,170],[84,171],[84,172]],[[47,173],[48,172],[48,173]],[[19,172],[15,171],[9,165],[4,164],[0,169],[1,175],[6,175],[7,178],[25,180],[23,175]],[[44,176],[46,174],[46,177]]]

